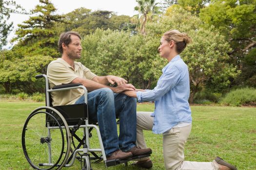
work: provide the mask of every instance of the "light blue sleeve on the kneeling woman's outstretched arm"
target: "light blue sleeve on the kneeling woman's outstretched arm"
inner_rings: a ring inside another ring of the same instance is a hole
[[[176,66],[172,66],[163,71],[162,76],[158,80],[157,86],[153,90],[144,92],[138,91],[138,102],[158,101],[164,94],[177,85],[181,74]]]

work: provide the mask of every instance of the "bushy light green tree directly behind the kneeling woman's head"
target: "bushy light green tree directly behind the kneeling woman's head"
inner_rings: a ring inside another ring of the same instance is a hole
[[[172,5],[158,23],[150,23],[147,30],[151,36],[160,36],[172,29],[187,33],[193,40],[192,44],[180,55],[188,65],[190,73],[190,102],[197,91],[209,85],[220,91],[230,85],[239,71],[229,64],[227,52],[231,51],[225,37],[211,28],[204,28],[197,16]],[[160,38],[160,37],[159,37]]]

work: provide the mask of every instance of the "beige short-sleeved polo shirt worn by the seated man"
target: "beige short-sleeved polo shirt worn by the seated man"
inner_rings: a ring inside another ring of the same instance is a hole
[[[92,73],[90,69],[80,62],[75,62],[74,68],[72,68],[62,58],[52,61],[47,69],[50,88],[55,85],[69,84],[77,77],[92,80],[95,76],[96,74]],[[81,88],[52,92],[52,104],[54,106],[74,104],[83,94],[84,90]]]

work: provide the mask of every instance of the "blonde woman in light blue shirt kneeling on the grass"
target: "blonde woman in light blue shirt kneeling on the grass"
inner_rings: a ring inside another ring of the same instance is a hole
[[[184,145],[191,132],[192,118],[188,103],[190,94],[189,71],[180,58],[181,53],[191,42],[191,38],[177,30],[163,34],[158,48],[161,57],[168,60],[162,75],[153,90],[126,91],[138,102],[155,101],[155,111],[137,113],[137,144],[147,148],[143,130],[153,130],[163,134],[163,156],[166,170],[236,170],[236,167],[217,157],[213,162],[184,161]],[[151,168],[148,158],[136,165]]]

